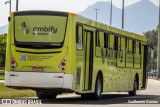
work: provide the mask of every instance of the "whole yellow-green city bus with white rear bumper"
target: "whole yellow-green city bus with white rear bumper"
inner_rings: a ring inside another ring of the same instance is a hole
[[[9,17],[5,83],[40,99],[75,92],[101,98],[147,86],[146,37],[70,12],[17,11]]]

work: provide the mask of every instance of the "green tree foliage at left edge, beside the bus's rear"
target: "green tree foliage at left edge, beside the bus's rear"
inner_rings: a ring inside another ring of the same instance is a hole
[[[7,34],[0,35],[0,66],[5,66]]]

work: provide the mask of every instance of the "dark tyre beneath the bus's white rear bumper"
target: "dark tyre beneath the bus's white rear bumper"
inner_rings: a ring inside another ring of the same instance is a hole
[[[57,97],[57,93],[47,93],[45,91],[36,91],[36,95],[39,99],[55,99]]]

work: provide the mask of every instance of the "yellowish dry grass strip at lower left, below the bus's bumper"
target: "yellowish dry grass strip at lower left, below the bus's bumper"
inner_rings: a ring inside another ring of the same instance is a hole
[[[25,98],[36,97],[35,91],[17,90],[5,87],[4,83],[0,83],[0,99],[1,98]]]

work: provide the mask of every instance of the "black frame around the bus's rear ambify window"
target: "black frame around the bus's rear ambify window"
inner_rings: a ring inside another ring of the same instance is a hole
[[[64,38],[62,40],[62,42],[51,42],[51,43],[47,43],[47,42],[22,42],[22,41],[17,41],[16,40],[16,30],[15,30],[15,17],[17,16],[29,16],[29,15],[35,15],[35,16],[61,16],[61,17],[66,17],[66,28],[65,28],[65,32],[64,32]],[[18,11],[15,12],[14,14],[14,22],[13,22],[13,26],[14,26],[14,45],[16,47],[19,48],[29,48],[29,49],[57,49],[57,48],[62,48],[64,46],[64,41],[66,38],[66,32],[67,32],[67,25],[68,25],[68,13],[66,12],[52,12],[52,11]],[[56,44],[56,45],[53,45]]]

